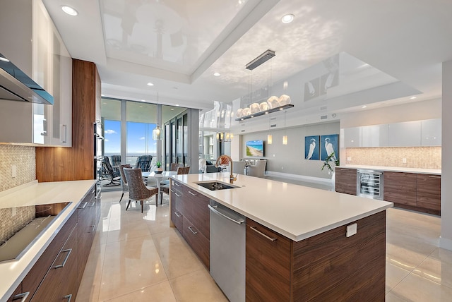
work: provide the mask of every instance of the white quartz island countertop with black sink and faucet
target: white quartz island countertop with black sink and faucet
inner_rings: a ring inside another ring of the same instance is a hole
[[[240,214],[294,241],[321,234],[392,207],[393,203],[237,175],[232,188],[210,191],[198,181],[229,183],[227,173],[172,176]],[[359,231],[359,226],[358,226]]]

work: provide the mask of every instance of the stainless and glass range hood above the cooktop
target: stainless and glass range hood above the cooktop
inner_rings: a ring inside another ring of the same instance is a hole
[[[0,54],[0,99],[54,104],[54,97]]]

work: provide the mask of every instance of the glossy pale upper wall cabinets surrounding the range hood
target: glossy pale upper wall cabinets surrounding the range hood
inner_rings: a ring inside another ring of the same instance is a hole
[[[54,105],[11,102],[14,104],[4,108],[3,102],[0,126],[11,134],[1,133],[0,141],[70,147],[71,56],[42,1],[18,0],[5,5],[8,7],[0,12],[1,52],[44,87],[54,97]],[[17,20],[20,26],[11,26]]]

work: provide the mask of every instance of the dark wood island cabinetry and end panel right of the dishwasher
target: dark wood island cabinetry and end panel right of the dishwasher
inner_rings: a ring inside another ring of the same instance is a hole
[[[246,301],[384,301],[386,211],[292,241],[246,219]]]

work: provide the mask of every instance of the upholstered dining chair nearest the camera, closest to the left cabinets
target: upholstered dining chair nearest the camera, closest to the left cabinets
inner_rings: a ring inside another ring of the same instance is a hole
[[[126,210],[129,209],[131,200],[139,201],[141,204],[141,212],[143,213],[143,204],[145,200],[155,195],[155,206],[158,206],[158,188],[148,188],[144,185],[141,178],[141,169],[123,168],[126,176],[127,184],[129,185],[129,203],[127,203]]]

